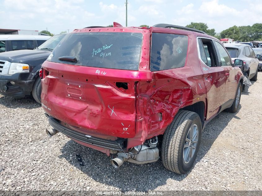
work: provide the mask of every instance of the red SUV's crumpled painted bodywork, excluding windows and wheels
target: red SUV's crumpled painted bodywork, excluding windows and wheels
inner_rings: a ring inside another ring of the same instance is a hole
[[[90,31],[142,33],[139,69],[95,68],[45,61],[42,64],[43,109],[72,130],[109,140],[125,138],[126,147],[130,149],[163,134],[180,109],[198,102],[204,105],[202,120],[205,126],[222,111],[225,89],[231,83],[234,95],[227,94],[226,99],[235,96],[241,70],[206,68],[198,58],[196,37],[202,36],[201,33],[156,27],[87,28],[73,33]],[[188,36],[184,67],[150,71],[153,32]],[[231,70],[238,74],[226,78],[225,72]],[[75,141],[109,155],[109,149]]]

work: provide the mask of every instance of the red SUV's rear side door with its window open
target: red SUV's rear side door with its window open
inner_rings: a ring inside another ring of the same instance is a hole
[[[200,66],[206,86],[207,114],[206,119],[218,114],[224,103],[225,71],[219,65],[215,46],[211,39],[198,38]]]

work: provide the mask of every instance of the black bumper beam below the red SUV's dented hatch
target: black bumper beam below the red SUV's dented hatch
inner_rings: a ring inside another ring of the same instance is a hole
[[[93,146],[99,146],[106,149],[118,150],[118,151],[122,151],[122,149],[124,148],[125,139],[121,138],[113,141],[113,140],[106,140],[93,136],[90,137],[90,136],[86,136],[86,134],[76,132],[72,129],[63,126],[55,118],[51,116],[48,117],[48,121],[49,124],[57,131],[80,142],[91,144]]]

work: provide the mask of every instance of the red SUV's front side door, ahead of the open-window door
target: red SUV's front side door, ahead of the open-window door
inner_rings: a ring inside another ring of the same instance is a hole
[[[236,95],[238,81],[237,81],[237,70],[232,66],[230,56],[226,49],[218,41],[214,41],[219,55],[220,66],[225,71],[225,96],[224,103],[230,104]]]

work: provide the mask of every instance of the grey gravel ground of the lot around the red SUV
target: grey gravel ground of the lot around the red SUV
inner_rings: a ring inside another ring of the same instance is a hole
[[[184,175],[161,160],[115,169],[110,157],[63,134],[49,138],[33,98],[0,95],[0,190],[262,190],[262,72],[253,83],[236,114],[221,112],[207,125]]]

